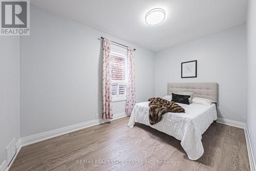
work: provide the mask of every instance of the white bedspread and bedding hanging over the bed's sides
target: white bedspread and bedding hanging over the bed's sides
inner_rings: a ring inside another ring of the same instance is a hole
[[[135,104],[128,126],[133,127],[135,122],[139,122],[173,136],[181,140],[181,146],[190,160],[199,159],[204,153],[202,134],[212,121],[217,120],[216,105],[178,103],[185,109],[185,113],[166,113],[160,122],[151,125],[148,120],[148,103]]]

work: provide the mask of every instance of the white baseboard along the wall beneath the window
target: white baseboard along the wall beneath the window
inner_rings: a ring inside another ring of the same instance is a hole
[[[112,120],[116,120],[123,117],[126,117],[125,113],[114,114]],[[47,131],[44,133],[34,134],[31,136],[21,138],[21,144],[22,146],[30,145],[36,142],[44,141],[50,138],[58,137],[58,136],[72,133],[78,130],[86,129],[87,127],[91,127],[91,126],[98,125],[104,122],[109,122],[109,121],[111,120],[104,121],[103,119],[95,119],[95,120],[82,122],[82,123],[78,123],[78,124],[74,124],[66,127],[61,127],[59,129]]]

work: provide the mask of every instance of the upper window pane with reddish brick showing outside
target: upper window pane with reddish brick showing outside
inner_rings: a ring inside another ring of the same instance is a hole
[[[125,80],[125,59],[111,56],[112,80]]]

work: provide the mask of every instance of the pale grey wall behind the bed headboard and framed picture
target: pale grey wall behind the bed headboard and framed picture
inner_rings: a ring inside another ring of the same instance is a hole
[[[197,78],[181,78],[181,62],[198,60]],[[167,82],[218,82],[218,117],[245,122],[246,27],[241,25],[158,52],[156,96]]]

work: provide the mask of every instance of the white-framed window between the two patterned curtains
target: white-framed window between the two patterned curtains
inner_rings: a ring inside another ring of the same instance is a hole
[[[127,52],[111,50],[112,101],[126,100]]]

